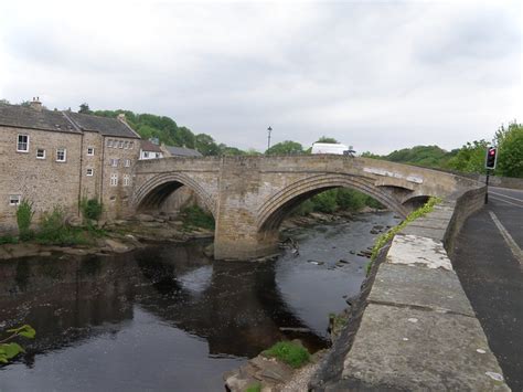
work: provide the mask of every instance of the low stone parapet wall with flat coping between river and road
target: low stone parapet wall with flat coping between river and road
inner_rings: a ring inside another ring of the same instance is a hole
[[[447,198],[382,250],[309,390],[510,391],[450,259],[484,192]]]

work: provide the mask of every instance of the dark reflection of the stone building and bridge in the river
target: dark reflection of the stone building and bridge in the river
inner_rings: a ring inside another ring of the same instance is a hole
[[[132,321],[135,305],[204,338],[211,354],[252,357],[288,333],[280,327],[306,328],[282,300],[273,264],[211,265],[201,246],[8,261],[0,276],[0,319],[7,327],[34,326],[33,352],[118,333]],[[306,340],[316,348],[327,343],[312,332]]]

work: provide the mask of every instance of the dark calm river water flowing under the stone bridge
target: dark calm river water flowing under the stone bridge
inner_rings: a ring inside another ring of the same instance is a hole
[[[0,391],[223,391],[223,372],[276,341],[327,347],[329,312],[365,275],[354,253],[395,224],[383,212],[292,230],[299,256],[266,263],[213,262],[205,241],[1,262],[0,331],[30,324],[36,339],[0,365]]]

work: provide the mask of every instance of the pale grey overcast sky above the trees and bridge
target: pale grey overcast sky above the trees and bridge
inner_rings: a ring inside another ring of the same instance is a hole
[[[523,121],[521,1],[0,1],[0,98],[265,150],[460,147]]]

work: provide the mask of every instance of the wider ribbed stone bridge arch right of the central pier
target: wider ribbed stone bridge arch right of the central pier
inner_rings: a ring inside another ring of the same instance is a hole
[[[408,214],[408,209],[387,192],[386,187],[376,187],[372,180],[359,176],[322,173],[296,181],[266,200],[257,213],[258,233],[278,230],[286,215],[295,206],[333,188],[351,188],[361,191],[403,216]]]

